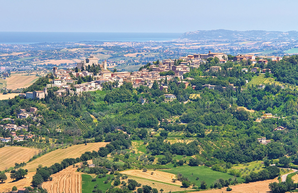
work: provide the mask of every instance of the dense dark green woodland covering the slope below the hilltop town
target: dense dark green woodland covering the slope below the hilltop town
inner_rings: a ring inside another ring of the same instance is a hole
[[[262,69],[270,68],[272,74],[267,74],[268,77],[280,83],[287,83],[288,86],[285,89],[278,84],[268,84],[264,89],[245,85],[245,80],[251,80],[252,77],[260,75],[241,72],[241,68],[252,68],[249,61],[247,63],[228,61],[223,64],[220,72],[205,71],[210,66],[220,65],[215,58],[208,59],[207,63],[201,65],[199,69],[192,69],[184,74],[184,78],[193,78],[187,88],[184,83],[178,83],[178,78],[155,82],[152,88],[142,85],[139,88],[133,88],[126,82],[119,88],[115,88],[117,87],[115,84],[104,83],[102,91],[83,92],[78,96],[66,94],[57,97],[54,94],[57,88],[52,88],[41,101],[18,96],[1,100],[0,118],[14,118],[17,125],[30,124],[28,132],[46,137],[45,141],[35,137],[10,145],[43,148],[44,153],[61,145],[85,143],[86,140],[88,143],[103,140],[111,142],[105,148],[90,154],[91,158],[98,159],[99,166],[113,170],[133,167],[132,163],[114,165],[104,158],[110,153],[126,154],[125,149],[131,147],[131,140],[144,140],[144,144],[148,144],[146,148],[148,156],[144,165],[152,164],[155,159],[160,165],[183,164],[178,160],[175,161],[175,155],[194,156],[195,158],[187,162],[188,165],[206,165],[212,167],[212,170],[221,172],[227,172],[231,164],[256,160],[273,163],[273,159],[283,156],[288,156],[289,158],[286,159],[291,161],[291,164],[297,164],[297,63],[298,56],[291,56],[278,62],[269,61],[268,65],[255,65]],[[228,68],[232,69],[227,70]],[[50,75],[41,77],[25,91],[42,90],[49,83],[49,77]],[[237,86],[236,91],[233,91],[229,83]],[[166,92],[159,90],[159,84],[167,85],[169,87],[167,93],[176,95],[177,99],[165,102]],[[212,84],[216,87],[214,90],[209,90],[203,88],[204,84]],[[191,88],[192,85],[196,88]],[[244,89],[241,90],[241,88]],[[192,94],[197,94],[195,95],[197,97],[191,97]],[[148,101],[144,105],[140,102],[142,98]],[[23,120],[16,118],[19,109],[30,107],[38,108],[36,118]],[[255,111],[249,112],[241,107]],[[272,113],[277,118],[255,122],[263,113]],[[76,121],[86,121],[92,129],[82,133]],[[9,122],[1,121],[1,124]],[[277,126],[287,127],[287,130],[274,131]],[[55,129],[58,128],[62,129],[62,132],[56,132]],[[18,131],[17,134],[26,135],[28,132]],[[177,135],[180,139],[190,139],[192,142],[167,142],[167,137],[177,137]],[[0,136],[9,137],[10,134],[1,130]],[[271,143],[260,144],[257,140],[260,137],[266,137],[267,140],[271,140]],[[57,145],[53,146],[50,143]],[[68,164],[39,168],[34,177],[35,186],[48,180],[50,174],[60,171],[61,168],[87,161],[89,158],[83,156],[74,158]],[[277,161],[278,163],[284,165]],[[138,167],[142,166],[138,165]],[[278,175],[279,169],[277,169],[277,167],[268,167],[262,170],[263,172],[242,177],[246,182],[271,179]],[[43,174],[40,176],[41,172]],[[86,170],[86,172],[90,171]],[[105,171],[98,170],[91,173],[105,173]],[[113,191],[116,190],[111,190]]]

